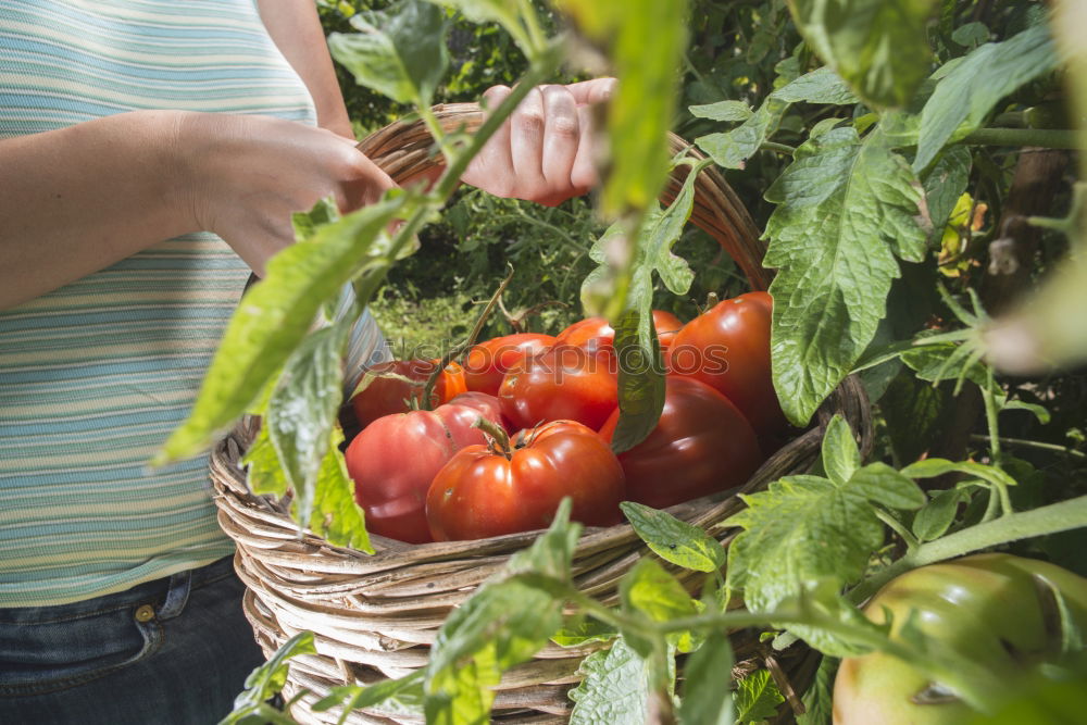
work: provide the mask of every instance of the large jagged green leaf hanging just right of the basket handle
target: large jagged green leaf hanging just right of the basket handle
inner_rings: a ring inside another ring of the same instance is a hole
[[[873,132],[852,127],[808,140],[766,191],[774,386],[804,425],[853,368],[886,312],[896,255],[919,262],[926,233],[921,184]]]

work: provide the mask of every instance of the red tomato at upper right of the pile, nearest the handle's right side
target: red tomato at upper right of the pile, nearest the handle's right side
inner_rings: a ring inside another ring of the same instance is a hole
[[[724,300],[684,325],[669,351],[673,375],[692,377],[725,393],[760,436],[773,436],[788,426],[770,370],[772,305],[766,292]]]

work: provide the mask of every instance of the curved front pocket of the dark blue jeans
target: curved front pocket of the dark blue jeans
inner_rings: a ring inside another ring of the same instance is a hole
[[[104,677],[163,642],[151,602],[96,612],[64,607],[0,621],[0,697],[45,695]]]

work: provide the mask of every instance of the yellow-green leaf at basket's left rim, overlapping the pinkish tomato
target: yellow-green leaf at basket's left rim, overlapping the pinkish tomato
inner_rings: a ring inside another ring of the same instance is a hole
[[[310,530],[333,546],[372,554],[374,548],[366,533],[366,514],[354,499],[354,482],[348,475],[339,449],[342,441],[343,433],[336,427],[321,460],[309,518],[304,517],[297,500],[291,504],[291,515],[297,522],[308,521]]]

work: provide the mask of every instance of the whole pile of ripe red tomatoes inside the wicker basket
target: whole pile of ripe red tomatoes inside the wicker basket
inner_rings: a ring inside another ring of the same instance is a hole
[[[346,452],[367,527],[409,542],[500,536],[546,527],[564,497],[574,520],[612,526],[624,500],[666,508],[742,484],[786,429],[771,304],[741,295],[686,325],[655,311],[664,410],[617,457],[619,360],[603,318],[479,342],[438,374],[428,401],[436,361],[371,371]]]

